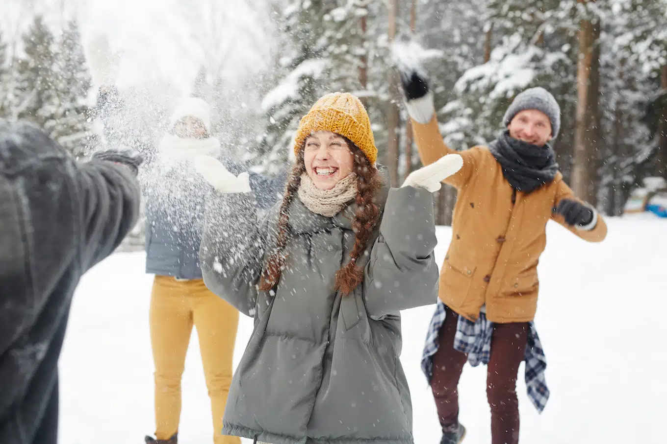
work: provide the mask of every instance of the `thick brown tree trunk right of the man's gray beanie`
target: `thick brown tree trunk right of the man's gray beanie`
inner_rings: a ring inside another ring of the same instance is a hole
[[[588,3],[595,0],[577,0],[578,3]],[[579,60],[577,65],[577,107],[576,128],[574,131],[574,170],[572,172],[572,189],[574,193],[587,202],[594,202],[592,180],[594,179],[594,143],[591,137],[592,122],[596,120],[588,113],[592,109],[592,103],[597,101],[596,85],[592,85],[599,79],[599,63],[594,62],[596,55],[596,27],[590,20],[584,19],[580,24],[579,31]],[[599,117],[598,117],[599,119]]]

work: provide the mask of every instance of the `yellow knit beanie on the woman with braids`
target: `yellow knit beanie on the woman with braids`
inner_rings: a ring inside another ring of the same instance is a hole
[[[378,160],[371,122],[364,104],[350,93],[330,93],[319,99],[299,122],[294,138],[294,152],[299,154],[303,142],[315,131],[331,131],[346,136],[374,164]]]

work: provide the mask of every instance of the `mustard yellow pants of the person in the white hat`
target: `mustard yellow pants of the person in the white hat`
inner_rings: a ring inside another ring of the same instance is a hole
[[[201,361],[213,411],[213,443],[240,444],[221,435],[239,312],[211,293],[203,280],[155,276],[150,308],[155,362],[155,437],[169,439],[181,416],[181,376],[192,326],[197,328]]]

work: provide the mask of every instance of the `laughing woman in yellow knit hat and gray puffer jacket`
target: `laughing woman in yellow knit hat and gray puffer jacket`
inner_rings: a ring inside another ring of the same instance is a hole
[[[223,433],[282,444],[412,444],[399,312],[435,301],[431,192],[462,159],[444,156],[392,188],[376,165],[368,113],[349,93],[313,105],[294,152],[283,200],[261,223],[244,176],[214,158],[197,162],[219,192],[200,248],[204,282],[255,317]]]

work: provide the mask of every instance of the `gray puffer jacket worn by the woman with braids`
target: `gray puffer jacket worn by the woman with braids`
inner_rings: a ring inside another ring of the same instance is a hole
[[[356,204],[326,218],[294,198],[287,262],[271,297],[256,285],[275,246],[278,206],[258,227],[248,196],[215,194],[199,253],[206,286],[255,317],[223,434],[274,444],[413,443],[400,310],[436,302],[432,194],[384,187],[382,221],[358,260],[364,282],[345,298],[333,286],[354,246]]]

